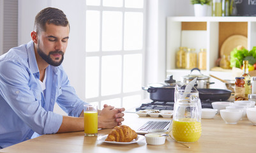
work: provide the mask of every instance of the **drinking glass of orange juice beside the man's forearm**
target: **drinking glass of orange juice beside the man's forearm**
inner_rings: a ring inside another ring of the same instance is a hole
[[[98,106],[84,105],[84,136],[98,135]]]

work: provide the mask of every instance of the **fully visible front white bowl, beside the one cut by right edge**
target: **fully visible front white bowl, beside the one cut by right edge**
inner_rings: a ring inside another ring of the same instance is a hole
[[[237,124],[243,116],[243,110],[220,110],[220,116],[226,124]]]

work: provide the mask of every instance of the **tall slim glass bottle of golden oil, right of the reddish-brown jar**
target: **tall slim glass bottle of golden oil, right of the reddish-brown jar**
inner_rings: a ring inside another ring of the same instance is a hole
[[[248,98],[248,94],[252,93],[251,77],[249,75],[248,61],[243,61],[243,75],[245,77],[245,97]]]

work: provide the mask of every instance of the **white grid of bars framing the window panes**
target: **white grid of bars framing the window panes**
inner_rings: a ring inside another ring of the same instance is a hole
[[[143,8],[125,8],[124,3],[123,7],[116,8],[116,7],[107,7],[102,6],[102,0],[100,6],[87,6],[86,10],[96,10],[100,11],[100,52],[86,52],[86,57],[100,57],[100,73],[99,73],[99,96],[95,98],[86,98],[86,102],[93,103],[98,102],[98,106],[102,106],[102,101],[114,98],[121,99],[121,106],[123,106],[123,98],[126,96],[133,96],[133,95],[140,95],[142,99],[144,99],[144,92],[142,90],[134,91],[134,92],[123,92],[123,57],[124,55],[128,54],[142,54],[142,85],[144,83],[143,78],[145,78],[145,45],[146,45],[146,0],[144,0]],[[123,12],[123,34],[124,34],[124,12],[142,12],[143,13],[143,41],[142,41],[142,49],[141,50],[124,50],[124,35],[122,38],[122,50],[121,51],[102,51],[102,11],[121,11]],[[102,80],[102,56],[105,55],[121,55],[122,56],[122,79],[121,79],[121,93],[120,94],[112,94],[109,96],[102,96],[101,94],[101,80]],[[138,105],[141,104],[141,101],[138,101]],[[101,109],[101,108],[100,108]]]

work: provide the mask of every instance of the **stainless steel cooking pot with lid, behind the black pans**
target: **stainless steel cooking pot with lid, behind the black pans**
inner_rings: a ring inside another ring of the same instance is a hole
[[[194,70],[199,71],[199,74],[192,74],[192,72]],[[206,75],[202,75],[200,69],[198,69],[198,68],[191,69],[189,75],[186,75],[186,76],[182,77],[182,82],[188,84],[194,78],[197,78],[197,81],[196,81],[197,85],[195,85],[197,89],[209,89],[210,84],[214,84],[214,82],[209,82],[210,77],[208,77]]]

